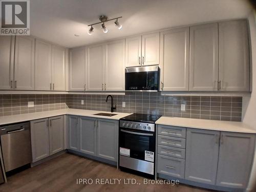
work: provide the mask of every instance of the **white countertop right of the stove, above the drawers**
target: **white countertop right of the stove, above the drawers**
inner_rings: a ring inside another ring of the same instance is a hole
[[[190,119],[180,117],[161,117],[156,124],[182,126],[203,130],[238,132],[238,133],[256,133],[252,127],[243,122],[218,121],[205,119]]]

